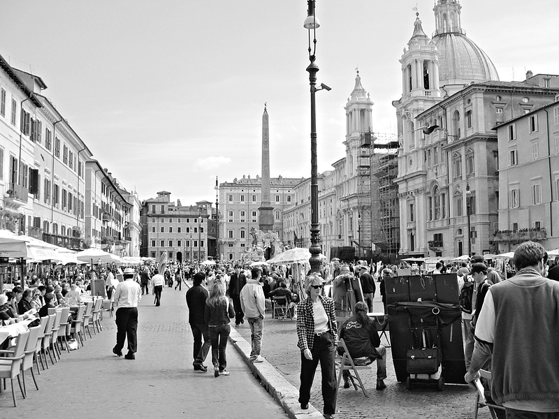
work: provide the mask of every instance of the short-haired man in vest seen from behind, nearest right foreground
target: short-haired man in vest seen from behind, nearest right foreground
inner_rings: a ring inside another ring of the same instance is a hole
[[[491,397],[507,418],[559,418],[559,283],[544,277],[547,253],[525,242],[516,275],[488,289],[475,328],[472,383],[491,356]]]

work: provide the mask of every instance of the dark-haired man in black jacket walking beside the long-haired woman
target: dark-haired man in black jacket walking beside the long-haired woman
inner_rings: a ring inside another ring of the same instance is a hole
[[[187,291],[187,306],[189,311],[188,321],[194,335],[194,371],[208,372],[203,362],[210,352],[212,341],[210,339],[210,332],[208,325],[204,321],[205,300],[208,300],[208,290],[202,286],[205,280],[205,274],[198,272],[192,279],[193,286]],[[202,344],[202,337],[204,344]]]

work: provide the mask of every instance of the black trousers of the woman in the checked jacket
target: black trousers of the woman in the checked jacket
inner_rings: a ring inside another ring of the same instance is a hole
[[[331,332],[321,336],[314,336],[312,344],[312,360],[307,360],[301,352],[301,374],[299,388],[299,403],[307,404],[310,400],[310,389],[314,381],[314,373],[320,361],[322,372],[322,399],[324,401],[324,414],[333,415],[336,412],[336,368],[335,368],[334,337]]]

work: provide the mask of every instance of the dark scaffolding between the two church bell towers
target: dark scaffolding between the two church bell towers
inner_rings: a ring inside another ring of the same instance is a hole
[[[377,179],[379,240],[373,243],[382,258],[394,261],[400,250],[400,202],[398,185],[398,140],[393,134],[375,134],[372,174]]]

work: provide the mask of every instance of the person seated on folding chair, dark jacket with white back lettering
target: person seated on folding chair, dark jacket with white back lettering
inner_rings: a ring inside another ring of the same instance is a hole
[[[340,339],[344,342],[356,365],[369,365],[377,360],[377,390],[386,388],[386,348],[380,344],[377,326],[367,316],[367,304],[355,304],[355,314],[344,321],[340,329]],[[338,346],[338,352],[343,351]],[[341,354],[340,354],[341,355]],[[363,358],[363,359],[362,359]],[[349,388],[349,372],[343,372],[344,388]]]

